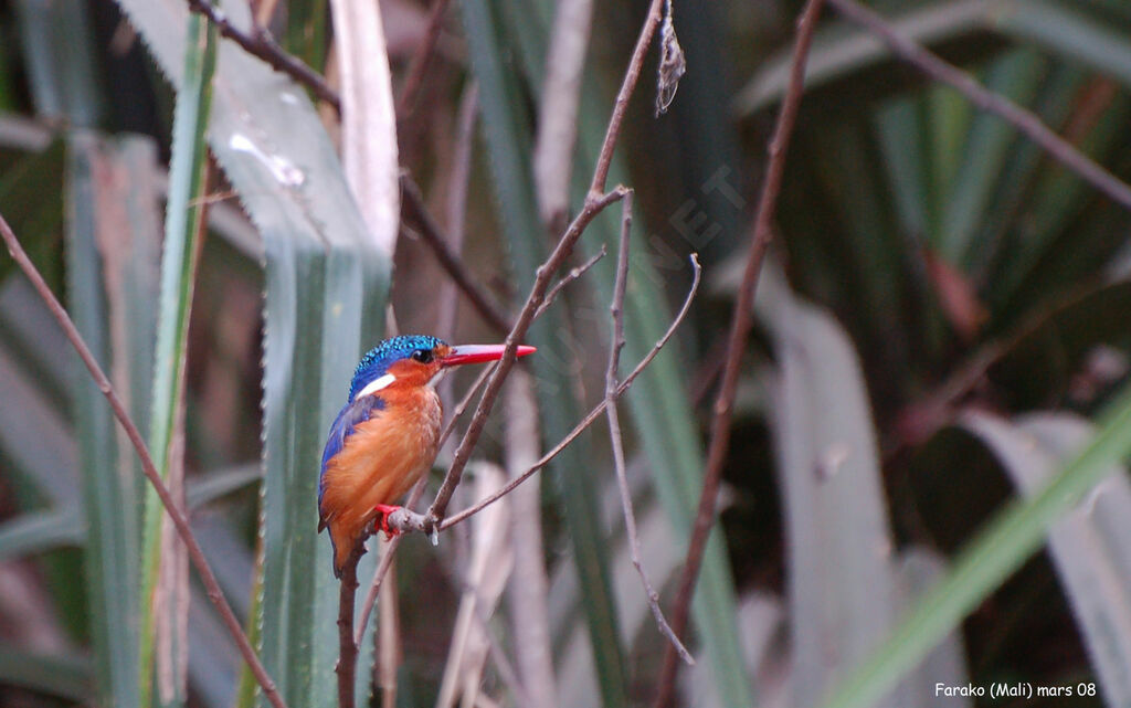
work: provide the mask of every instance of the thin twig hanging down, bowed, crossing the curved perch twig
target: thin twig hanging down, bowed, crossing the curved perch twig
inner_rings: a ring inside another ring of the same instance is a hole
[[[616,413],[616,370],[621,361],[621,349],[624,348],[624,291],[629,279],[629,235],[632,231],[632,192],[630,191],[621,202],[623,210],[621,216],[621,243],[616,257],[616,280],[613,285],[613,302],[610,312],[613,318],[612,340],[608,343],[608,368],[605,370],[605,417],[608,420],[608,439],[613,449],[613,466],[616,469],[616,489],[621,493],[621,511],[624,513],[624,526],[628,529],[629,551],[632,555],[632,565],[636,567],[644,585],[645,596],[648,598],[648,607],[656,620],[659,631],[667,637],[683,660],[689,665],[694,665],[680,638],[675,636],[672,628],[664,619],[664,612],[659,608],[659,594],[648,580],[648,575],[640,562],[640,539],[637,537],[636,513],[632,512],[632,492],[629,491],[628,473],[624,470],[624,441],[621,438],[621,422]]]

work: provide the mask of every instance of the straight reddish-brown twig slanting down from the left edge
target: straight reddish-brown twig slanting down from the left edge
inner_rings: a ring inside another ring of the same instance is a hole
[[[121,399],[118,398],[118,394],[114,391],[114,387],[110,383],[106,374],[102,371],[102,366],[94,359],[90,349],[86,346],[83,336],[75,328],[75,323],[71,321],[70,316],[67,314],[67,310],[59,303],[59,300],[48,287],[48,284],[43,280],[43,276],[32,264],[24,248],[19,244],[16,239],[16,234],[12,233],[11,226],[8,222],[0,215],[0,236],[3,238],[5,244],[8,247],[8,252],[11,254],[12,260],[19,266],[24,275],[32,282],[35,291],[46,303],[48,309],[59,321],[60,327],[63,329],[63,334],[67,335],[67,339],[70,340],[71,346],[78,352],[79,359],[86,365],[87,370],[90,372],[90,378],[94,379],[95,385],[102,395],[106,397],[110,403],[110,407],[114,412],[114,417],[121,423],[122,428],[126,430],[126,435],[130,439],[130,443],[133,449],[137,450],[138,458],[141,460],[141,469],[145,476],[148,477],[149,482],[153,484],[154,489],[157,491],[157,497],[161,498],[161,503],[165,507],[169,512],[169,517],[173,520],[173,525],[176,527],[176,533],[180,534],[181,539],[184,541],[185,549],[189,552],[189,560],[197,569],[197,573],[200,576],[200,581],[204,582],[205,589],[208,594],[208,599],[211,601],[213,605],[216,606],[216,611],[221,615],[224,625],[227,628],[228,633],[232,634],[232,639],[235,640],[236,647],[240,649],[240,654],[243,656],[244,660],[248,662],[248,666],[251,668],[252,675],[254,675],[256,681],[264,690],[264,694],[271,702],[275,708],[286,708],[286,702],[284,702],[283,697],[279,696],[278,690],[275,688],[275,682],[267,674],[267,670],[264,668],[262,663],[259,657],[256,656],[256,650],[251,647],[251,642],[248,640],[248,636],[243,633],[243,628],[240,625],[240,621],[235,618],[235,613],[232,612],[232,606],[227,604],[227,599],[224,597],[223,590],[221,590],[219,582],[216,581],[216,575],[213,572],[211,567],[208,564],[207,559],[205,559],[204,551],[200,549],[200,544],[197,542],[196,536],[192,534],[192,529],[189,526],[188,519],[184,513],[176,506],[175,501],[169,487],[162,481],[161,475],[157,474],[157,469],[154,467],[153,457],[149,455],[149,449],[146,447],[145,440],[141,433],[138,431],[137,425],[133,424],[133,420],[126,412],[126,407],[122,405]]]

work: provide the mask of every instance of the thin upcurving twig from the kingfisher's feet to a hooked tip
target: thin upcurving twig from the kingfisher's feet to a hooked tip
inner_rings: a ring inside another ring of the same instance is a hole
[[[683,301],[683,306],[680,308],[679,313],[675,316],[675,319],[672,320],[672,323],[668,326],[667,331],[664,333],[664,336],[656,340],[656,344],[653,345],[651,351],[648,352],[648,354],[640,360],[640,363],[638,363],[636,368],[632,370],[632,372],[629,373],[629,375],[624,377],[624,380],[621,382],[621,385],[616,387],[618,398],[623,396],[629,390],[633,381],[636,381],[637,377],[644,373],[644,370],[648,368],[648,364],[650,364],[651,361],[656,359],[656,355],[659,354],[661,349],[663,349],[664,346],[667,344],[667,342],[672,338],[672,335],[675,334],[675,329],[680,326],[680,322],[683,321],[683,318],[687,316],[688,310],[691,309],[691,302],[694,300],[696,293],[699,290],[699,280],[702,273],[702,268],[699,265],[699,259],[696,258],[694,253],[691,254],[691,266],[694,269],[694,277],[691,280],[691,288],[688,291],[688,296]],[[578,435],[585,432],[585,430],[589,428],[589,425],[592,425],[594,421],[601,417],[601,414],[605,411],[606,405],[608,405],[608,402],[602,399],[602,402],[598,403],[596,406],[594,406],[592,411],[585,414],[585,417],[581,418],[581,421],[578,422],[577,425],[573,426],[573,430],[571,430],[568,435],[562,438],[558,444],[555,444],[549,452],[543,455],[538,459],[538,461],[534,463],[534,465],[532,465],[526,472],[524,472],[523,474],[518,475],[517,477],[508,482],[506,486],[501,487],[499,491],[493,492],[489,497],[476,502],[474,506],[443,519],[443,521],[437,525],[435,528],[439,530],[451,528],[456,524],[459,524],[460,521],[464,521],[475,516],[486,507],[490,507],[494,502],[499,501],[507,494],[515,491],[515,487],[517,487],[523,482],[526,482],[526,480],[528,480],[534,473],[549,465],[550,460],[558,457],[562,450],[564,450],[571,442],[577,440]],[[413,513],[405,509],[392,512],[391,515],[389,515],[389,518],[387,520],[389,523],[389,526],[391,528],[396,528],[397,530],[403,530],[403,532],[429,530],[428,526],[429,519],[426,516],[420,513]]]

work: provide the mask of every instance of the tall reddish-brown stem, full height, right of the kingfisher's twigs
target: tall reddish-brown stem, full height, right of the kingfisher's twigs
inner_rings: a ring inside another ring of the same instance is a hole
[[[711,420],[710,430],[711,440],[703,470],[702,492],[699,497],[699,508],[696,511],[696,520],[691,532],[691,541],[688,545],[688,554],[683,563],[683,573],[680,577],[679,590],[672,603],[672,628],[677,636],[683,636],[687,628],[696,579],[699,577],[699,567],[702,563],[703,551],[707,547],[707,538],[710,536],[711,526],[715,524],[715,506],[718,498],[719,480],[723,475],[723,464],[726,461],[726,452],[729,447],[731,415],[734,408],[735,391],[739,386],[739,373],[742,370],[742,353],[745,351],[746,338],[750,335],[750,328],[753,323],[750,312],[753,305],[754,291],[758,287],[758,275],[761,271],[762,260],[766,257],[766,250],[769,248],[770,239],[774,235],[771,224],[774,222],[774,209],[777,205],[778,192],[782,190],[786,149],[789,146],[793,127],[797,121],[801,95],[805,85],[805,59],[809,57],[809,48],[813,41],[817,19],[821,15],[822,2],[823,0],[809,0],[797,19],[797,42],[794,48],[789,85],[786,88],[785,97],[782,100],[782,109],[778,113],[777,126],[774,129],[774,137],[767,146],[769,164],[766,166],[766,180],[762,183],[762,192],[758,201],[753,239],[750,244],[750,253],[746,256],[746,269],[742,276],[742,285],[739,287],[739,296],[731,319],[726,366],[723,370],[723,382],[715,398],[714,418]],[[657,707],[666,708],[674,701],[676,672],[675,651],[672,647],[668,647],[664,654],[664,664],[661,670],[659,680],[657,681]]]

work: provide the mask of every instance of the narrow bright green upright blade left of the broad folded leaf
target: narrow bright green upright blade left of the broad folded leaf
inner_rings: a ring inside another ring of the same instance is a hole
[[[184,357],[200,245],[201,196],[208,149],[205,131],[211,106],[211,78],[216,68],[216,29],[199,15],[185,25],[184,84],[176,92],[173,116],[173,154],[170,162],[169,199],[165,211],[165,242],[161,270],[161,296],[157,319],[157,348],[154,355],[153,404],[150,412],[149,449],[157,473],[170,480],[170,467],[181,464],[172,459],[172,441],[178,412],[184,405]],[[154,671],[155,628],[154,592],[162,563],[185,563],[180,554],[162,558],[162,524],[165,512],[157,493],[147,489],[145,499],[144,556],[141,578],[141,648],[140,691],[148,694]],[[173,589],[161,612],[175,615],[188,607],[174,599]],[[181,622],[175,616],[165,623],[176,632]],[[162,657],[171,666],[182,665],[178,658],[188,651],[187,637],[167,638],[170,654]],[[184,702],[184,676],[174,677],[159,691],[162,705]]]

